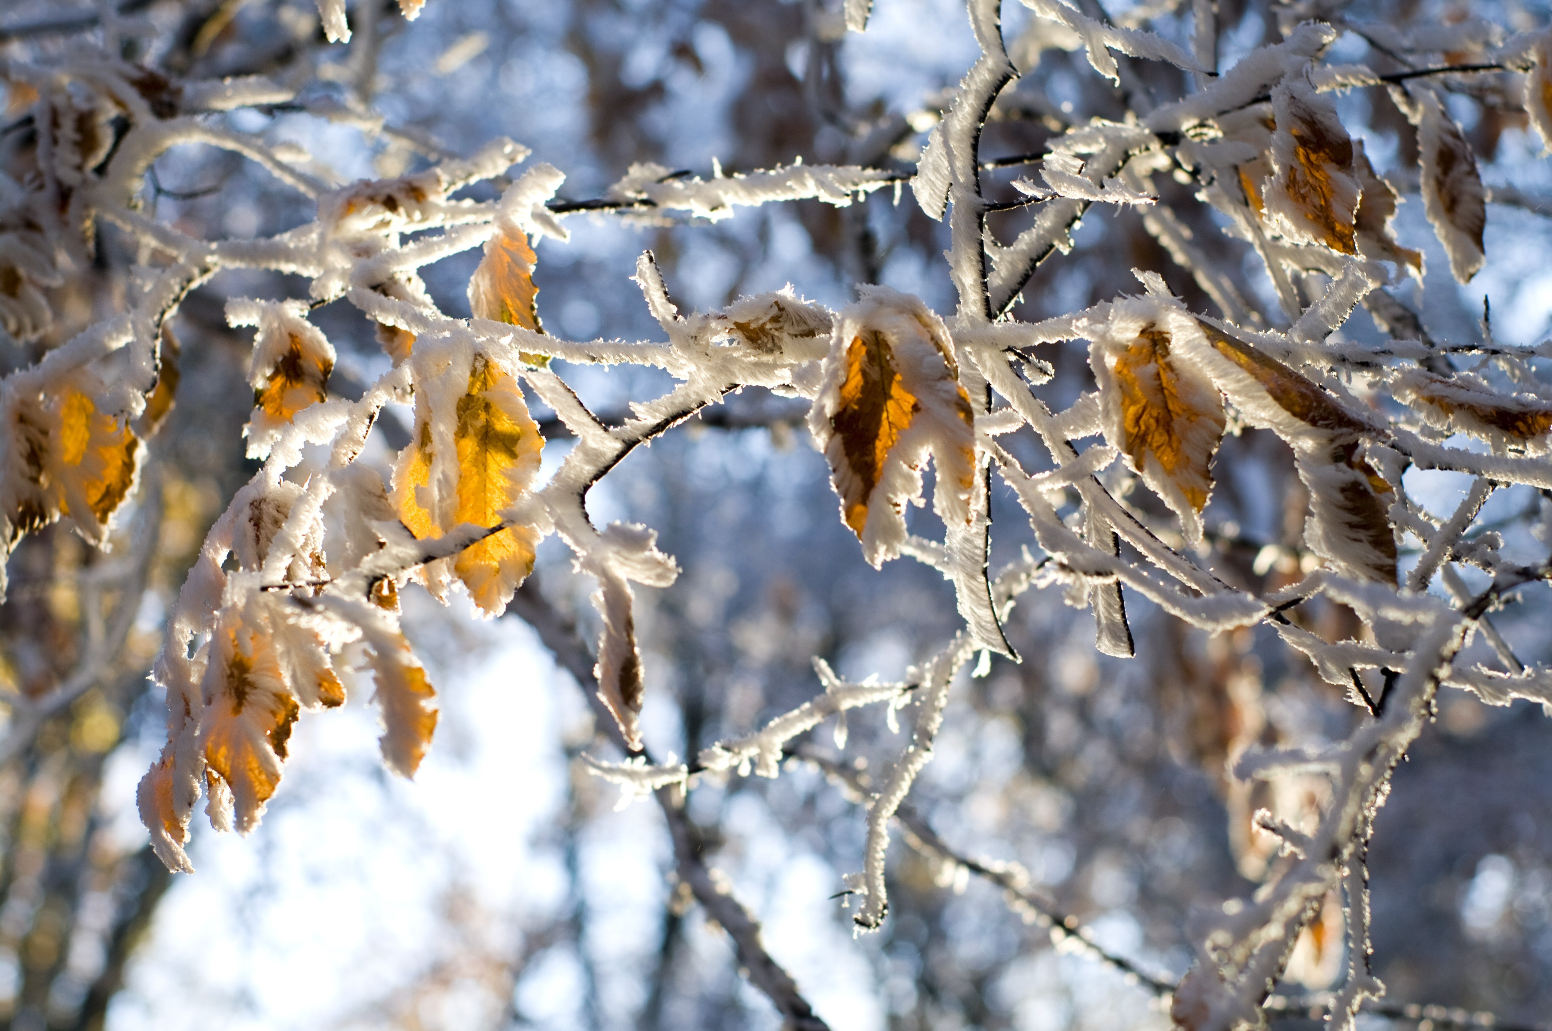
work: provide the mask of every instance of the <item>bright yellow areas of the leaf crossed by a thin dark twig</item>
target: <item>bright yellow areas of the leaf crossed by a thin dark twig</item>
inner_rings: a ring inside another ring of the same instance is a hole
[[[394,468],[399,518],[417,538],[441,536],[459,522],[501,524],[501,513],[528,490],[539,471],[543,437],[528,414],[517,381],[486,355],[473,355],[467,389],[453,411],[425,392],[416,398],[416,440]],[[428,491],[436,467],[433,422],[453,420],[453,491]],[[430,496],[428,496],[430,495]],[[487,615],[500,615],[512,592],[534,569],[539,535],[526,526],[504,527],[466,547],[453,572]]]

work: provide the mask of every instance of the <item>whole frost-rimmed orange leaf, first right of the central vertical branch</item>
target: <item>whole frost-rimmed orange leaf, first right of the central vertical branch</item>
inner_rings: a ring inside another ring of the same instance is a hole
[[[1094,333],[1090,364],[1099,381],[1105,436],[1144,482],[1180,516],[1186,538],[1201,538],[1212,495],[1212,456],[1223,437],[1223,398],[1176,338],[1201,341],[1197,321],[1152,298],[1122,301]]]

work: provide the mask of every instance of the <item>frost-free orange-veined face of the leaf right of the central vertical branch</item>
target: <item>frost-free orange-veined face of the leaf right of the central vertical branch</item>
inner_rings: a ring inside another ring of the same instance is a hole
[[[1170,358],[1170,335],[1158,326],[1145,327],[1111,361],[1121,450],[1172,509],[1200,513],[1212,493],[1212,456],[1226,423],[1217,389]]]

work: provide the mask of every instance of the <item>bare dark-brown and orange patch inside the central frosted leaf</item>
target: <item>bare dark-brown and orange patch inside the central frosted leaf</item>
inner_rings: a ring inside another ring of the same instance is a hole
[[[841,403],[830,419],[846,462],[835,470],[846,526],[858,538],[868,524],[868,504],[883,476],[885,459],[922,408],[905,389],[883,333],[863,330],[846,349]]]

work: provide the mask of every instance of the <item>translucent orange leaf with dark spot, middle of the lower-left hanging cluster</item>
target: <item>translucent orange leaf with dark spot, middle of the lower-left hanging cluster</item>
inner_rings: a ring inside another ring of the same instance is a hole
[[[231,791],[237,829],[248,833],[281,781],[301,705],[286,688],[268,634],[225,625],[210,648],[200,743],[210,771]]]

